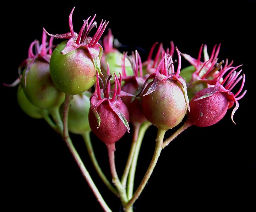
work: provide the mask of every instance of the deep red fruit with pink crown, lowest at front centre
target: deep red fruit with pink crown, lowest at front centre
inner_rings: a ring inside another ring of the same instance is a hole
[[[105,144],[113,144],[124,136],[126,130],[129,132],[129,111],[120,98],[120,82],[115,75],[115,88],[110,92],[110,78],[108,76],[106,86],[102,82],[99,86],[97,76],[97,87],[91,97],[91,110],[89,110],[89,125],[92,132]],[[121,81],[121,78],[120,78]],[[117,88],[118,84],[118,88]]]

